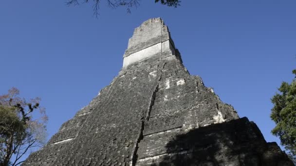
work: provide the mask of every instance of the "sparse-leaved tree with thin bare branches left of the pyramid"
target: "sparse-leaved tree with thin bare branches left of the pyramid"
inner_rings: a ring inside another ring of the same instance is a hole
[[[14,87],[0,96],[0,166],[20,165],[28,150],[45,144],[47,116],[39,101],[19,98]],[[33,119],[35,110],[39,110],[37,119]]]

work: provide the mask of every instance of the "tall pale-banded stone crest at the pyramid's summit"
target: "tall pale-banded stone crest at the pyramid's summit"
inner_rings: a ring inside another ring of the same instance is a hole
[[[175,49],[167,26],[161,18],[151,18],[136,28],[123,55],[123,68],[152,56],[166,58],[180,53]],[[179,58],[181,59],[181,58]]]

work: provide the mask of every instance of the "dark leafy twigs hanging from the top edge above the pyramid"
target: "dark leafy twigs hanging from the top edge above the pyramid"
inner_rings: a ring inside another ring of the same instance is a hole
[[[68,5],[72,5],[72,4],[77,5],[80,3],[87,3],[89,1],[90,0],[67,0],[66,3]],[[128,13],[130,13],[130,8],[137,7],[140,4],[139,3],[140,0],[106,0],[106,1],[111,8],[117,8],[120,6],[127,7]],[[155,0],[155,3],[158,3],[158,2],[170,7],[178,7],[180,6],[181,0]],[[93,0],[93,12],[95,16],[98,15],[100,3],[101,3],[101,0]]]

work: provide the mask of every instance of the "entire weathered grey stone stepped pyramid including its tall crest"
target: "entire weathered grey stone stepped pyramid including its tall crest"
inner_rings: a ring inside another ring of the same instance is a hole
[[[110,85],[23,166],[293,166],[255,123],[192,76],[167,26],[134,30]]]

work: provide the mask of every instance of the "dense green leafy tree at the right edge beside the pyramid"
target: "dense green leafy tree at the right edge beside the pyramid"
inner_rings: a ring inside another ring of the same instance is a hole
[[[292,71],[296,75],[296,69]],[[295,77],[296,78],[296,77]],[[279,93],[272,97],[274,104],[271,118],[276,127],[271,131],[278,136],[281,144],[289,150],[291,159],[296,156],[296,79],[292,83],[282,82]],[[295,161],[295,160],[294,160]]]

